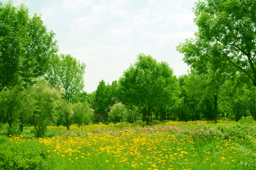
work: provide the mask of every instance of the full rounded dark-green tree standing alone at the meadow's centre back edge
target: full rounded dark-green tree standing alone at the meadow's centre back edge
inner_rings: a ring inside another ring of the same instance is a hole
[[[119,79],[122,86],[122,100],[125,105],[144,108],[144,118],[149,123],[152,108],[162,101],[169,106],[175,101],[176,77],[166,62],[156,62],[151,55],[139,54],[137,61],[124,71]]]

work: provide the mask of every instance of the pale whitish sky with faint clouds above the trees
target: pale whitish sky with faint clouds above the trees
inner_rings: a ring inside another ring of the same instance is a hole
[[[7,2],[2,0],[1,2]],[[198,27],[192,8],[198,0],[13,0],[29,14],[41,13],[58,40],[59,54],[72,55],[85,67],[84,91],[91,93],[122,77],[139,53],[168,62],[179,77],[189,67],[176,51]]]

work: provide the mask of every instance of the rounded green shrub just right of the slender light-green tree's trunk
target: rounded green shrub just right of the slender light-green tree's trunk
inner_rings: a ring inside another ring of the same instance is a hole
[[[89,103],[75,103],[73,105],[73,112],[73,119],[75,123],[78,123],[78,126],[92,123],[94,110],[90,108]]]

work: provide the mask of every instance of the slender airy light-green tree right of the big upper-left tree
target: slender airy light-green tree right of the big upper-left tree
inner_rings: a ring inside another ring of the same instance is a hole
[[[50,69],[46,80],[51,87],[63,89],[63,97],[68,103],[82,91],[84,85],[85,63],[80,63],[71,55],[55,55],[50,60]],[[63,110],[64,111],[64,110]],[[70,112],[65,113],[66,125],[69,130]]]

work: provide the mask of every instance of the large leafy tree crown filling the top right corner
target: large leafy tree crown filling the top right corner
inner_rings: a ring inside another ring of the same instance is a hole
[[[256,86],[256,1],[199,1],[193,12],[196,38],[177,47],[184,62],[198,71],[210,62],[221,72],[244,74]]]

